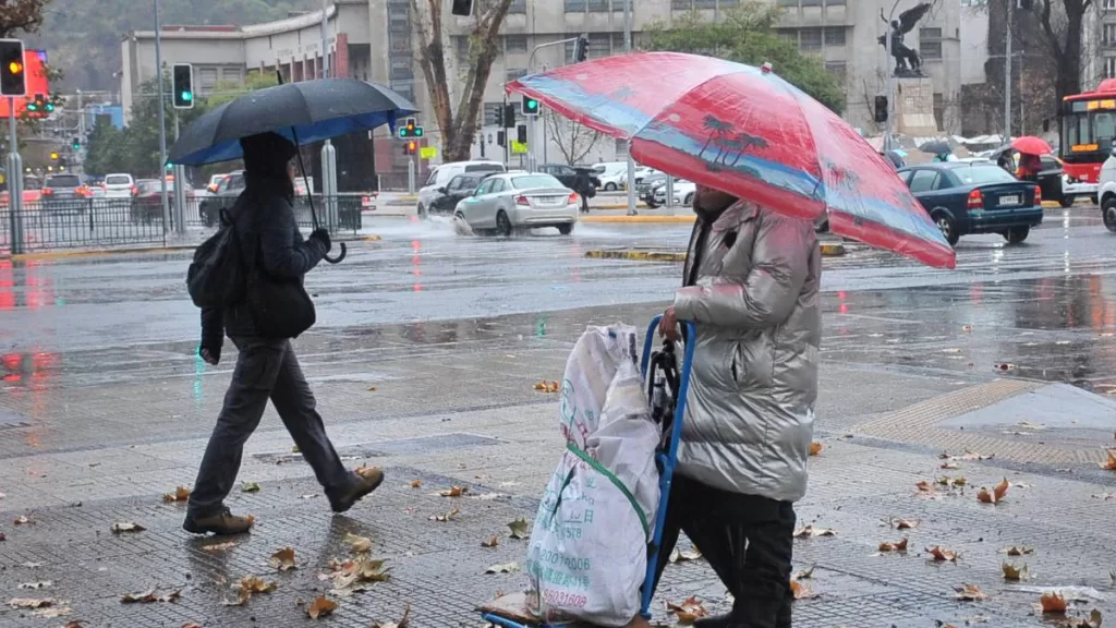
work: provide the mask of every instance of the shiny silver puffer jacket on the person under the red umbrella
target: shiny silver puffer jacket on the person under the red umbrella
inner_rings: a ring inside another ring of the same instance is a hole
[[[679,473],[733,493],[795,502],[818,396],[821,254],[814,226],[738,201],[690,239],[695,285],[674,296],[698,326]]]

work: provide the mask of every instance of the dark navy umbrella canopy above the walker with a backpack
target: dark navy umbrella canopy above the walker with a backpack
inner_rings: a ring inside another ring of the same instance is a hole
[[[202,165],[242,156],[240,139],[273,132],[309,144],[376,129],[415,113],[392,89],[352,78],[321,78],[250,92],[206,112],[182,132],[167,161]]]

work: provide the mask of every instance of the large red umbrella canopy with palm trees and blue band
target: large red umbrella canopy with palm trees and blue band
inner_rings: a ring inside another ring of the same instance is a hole
[[[953,248],[894,168],[827,107],[776,74],[681,53],[605,57],[508,85],[645,165],[925,264]]]

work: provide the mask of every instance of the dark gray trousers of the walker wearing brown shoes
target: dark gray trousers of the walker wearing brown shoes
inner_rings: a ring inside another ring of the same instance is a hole
[[[240,350],[224,407],[210,436],[202,466],[198,469],[187,512],[200,517],[215,514],[232,491],[240,470],[244,443],[263,417],[268,399],[279,412],[287,431],[314,469],[318,483],[331,495],[353,483],[337,451],[326,436],[315,409],[314,393],[298,365],[288,340],[232,339]]]

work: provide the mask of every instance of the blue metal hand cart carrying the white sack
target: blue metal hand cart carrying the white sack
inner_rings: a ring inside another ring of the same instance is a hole
[[[694,339],[696,329],[693,323],[682,323],[684,335],[683,359],[681,367],[677,361],[675,343],[664,340],[663,346],[654,351],[655,332],[662,316],[652,318],[647,326],[647,337],[643,343],[643,360],[639,369],[647,386],[647,397],[651,402],[652,418],[662,428],[662,441],[655,453],[658,467],[658,512],[655,514],[655,531],[651,545],[647,548],[647,573],[639,605],[639,615],[651,620],[651,600],[655,594],[655,570],[663,544],[663,524],[666,521],[666,505],[674,480],[674,467],[677,464],[679,440],[682,438],[682,420],[686,412],[686,391],[690,389],[690,371],[694,356]],[[549,628],[547,624],[525,624],[496,612],[482,612],[481,618],[494,626],[503,628]]]

